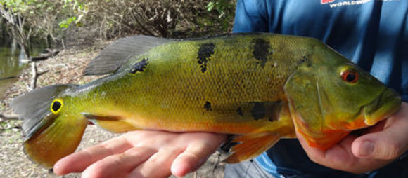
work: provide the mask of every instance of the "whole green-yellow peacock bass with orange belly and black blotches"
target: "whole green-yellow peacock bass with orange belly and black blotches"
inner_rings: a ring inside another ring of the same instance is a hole
[[[237,135],[225,161],[238,163],[295,129],[328,149],[401,104],[395,90],[321,41],[281,34],[131,36],[101,51],[84,74],[110,75],[11,102],[24,119],[25,153],[44,167],[74,152],[89,122],[111,132]]]

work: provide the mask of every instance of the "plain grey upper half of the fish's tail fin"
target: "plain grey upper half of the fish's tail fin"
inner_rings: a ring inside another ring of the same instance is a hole
[[[67,88],[76,87],[77,85],[71,84],[46,86],[20,95],[11,101],[10,106],[15,114],[24,120],[23,134],[26,139],[37,129],[36,125],[51,113],[52,100]]]

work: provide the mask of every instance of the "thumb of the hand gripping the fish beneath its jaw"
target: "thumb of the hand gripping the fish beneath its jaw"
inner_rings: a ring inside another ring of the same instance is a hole
[[[359,158],[395,159],[408,149],[408,104],[385,121],[384,129],[362,135],[352,143]]]

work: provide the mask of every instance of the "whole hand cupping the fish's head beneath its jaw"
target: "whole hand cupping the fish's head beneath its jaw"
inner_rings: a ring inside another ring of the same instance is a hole
[[[310,147],[298,132],[307,156],[320,165],[355,174],[376,170],[408,149],[408,103],[385,121],[364,130],[362,136],[348,135],[326,151]]]

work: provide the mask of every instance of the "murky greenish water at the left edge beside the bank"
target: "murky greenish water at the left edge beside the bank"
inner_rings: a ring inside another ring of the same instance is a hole
[[[43,47],[32,48],[30,55],[37,56]],[[20,50],[11,48],[11,46],[0,46],[0,98],[8,87],[13,85],[17,78],[1,79],[6,77],[15,77],[28,65],[20,62]]]

